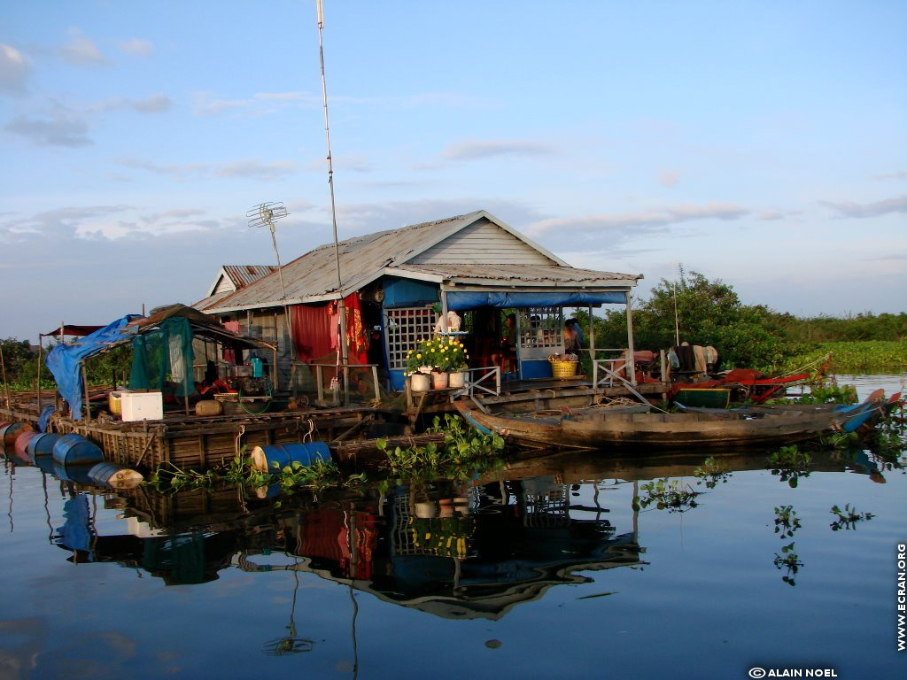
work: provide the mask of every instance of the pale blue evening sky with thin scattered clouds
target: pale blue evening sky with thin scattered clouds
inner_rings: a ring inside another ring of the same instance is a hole
[[[577,267],[907,311],[907,3],[325,0],[341,238],[474,209]],[[315,0],[5,0],[0,337],[331,240]]]

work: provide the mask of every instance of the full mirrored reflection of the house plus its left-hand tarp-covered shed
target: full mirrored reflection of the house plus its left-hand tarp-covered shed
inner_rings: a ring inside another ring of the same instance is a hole
[[[552,586],[590,580],[579,571],[640,564],[634,533],[571,517],[570,488],[553,478],[473,490],[445,517],[426,516],[405,487],[356,502],[298,494],[280,508],[226,490],[208,500],[203,490],[121,493],[108,507],[124,511],[132,533],[94,535],[89,496],[78,494],[54,542],[72,559],[142,568],[167,584],[202,583],[229,567],[297,569],[437,616],[498,618]],[[294,562],[275,566],[268,555]]]

